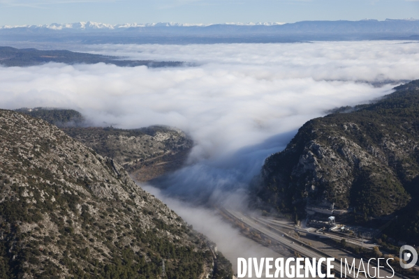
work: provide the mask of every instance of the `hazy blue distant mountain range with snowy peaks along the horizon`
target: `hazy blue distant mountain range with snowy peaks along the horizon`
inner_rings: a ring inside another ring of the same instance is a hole
[[[419,20],[303,21],[225,24],[78,22],[0,27],[0,41],[36,43],[293,43],[328,40],[418,40]]]

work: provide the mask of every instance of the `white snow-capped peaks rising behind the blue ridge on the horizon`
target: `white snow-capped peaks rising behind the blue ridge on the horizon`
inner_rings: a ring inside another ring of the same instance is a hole
[[[242,25],[242,26],[273,26],[285,24],[285,22],[227,22],[226,25]],[[43,25],[4,25],[0,29],[13,29],[13,28],[30,28],[30,29],[52,29],[52,30],[87,30],[87,29],[127,29],[135,27],[207,27],[214,24],[204,23],[177,23],[177,22],[158,22],[158,23],[126,23],[126,24],[107,24],[101,22],[75,22],[75,23],[52,23]]]

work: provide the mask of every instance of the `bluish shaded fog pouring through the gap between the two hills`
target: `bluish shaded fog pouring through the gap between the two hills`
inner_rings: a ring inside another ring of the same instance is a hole
[[[265,158],[285,149],[296,133],[281,133],[228,156],[199,160],[150,183],[171,197],[196,204],[229,204],[246,209],[249,182],[260,172]]]

